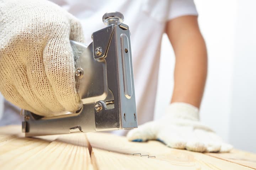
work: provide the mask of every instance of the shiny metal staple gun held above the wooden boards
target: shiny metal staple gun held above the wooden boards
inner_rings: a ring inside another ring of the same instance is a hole
[[[25,136],[137,128],[130,31],[123,19],[119,12],[106,13],[107,27],[92,34],[89,46],[70,41],[80,61],[75,76],[82,107],[53,117],[25,111]]]

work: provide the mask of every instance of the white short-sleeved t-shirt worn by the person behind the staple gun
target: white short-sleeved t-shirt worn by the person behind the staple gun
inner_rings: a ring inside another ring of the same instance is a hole
[[[131,32],[138,124],[153,120],[162,34],[167,21],[184,15],[197,15],[193,0],[51,1],[80,19],[87,45],[92,41],[91,34],[105,27],[102,23],[104,13],[123,13],[124,23]]]

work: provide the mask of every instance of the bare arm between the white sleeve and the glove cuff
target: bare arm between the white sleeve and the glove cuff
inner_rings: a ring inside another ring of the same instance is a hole
[[[166,24],[166,33],[176,56],[171,103],[200,107],[207,77],[207,51],[197,16],[182,16]]]

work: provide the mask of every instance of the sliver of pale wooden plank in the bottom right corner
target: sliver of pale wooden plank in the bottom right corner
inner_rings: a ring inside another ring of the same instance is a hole
[[[207,155],[256,169],[256,155],[253,153],[233,149],[230,153],[207,153]]]

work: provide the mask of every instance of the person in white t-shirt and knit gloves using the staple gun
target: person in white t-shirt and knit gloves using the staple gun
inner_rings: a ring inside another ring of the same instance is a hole
[[[232,146],[199,121],[207,51],[193,0],[0,0],[0,91],[6,100],[43,116],[75,112],[80,98],[69,40],[90,44],[91,34],[103,27],[100,18],[108,11],[123,13],[131,31],[140,126],[128,132],[128,140],[159,140],[196,152],[229,152]],[[174,90],[165,115],[153,120],[163,33],[176,57]]]

